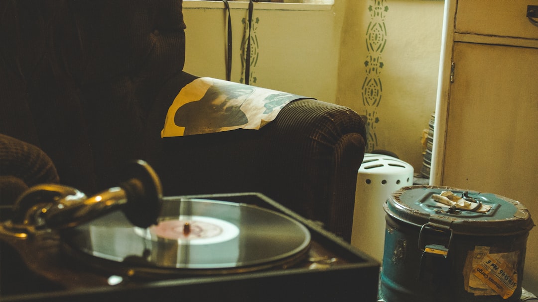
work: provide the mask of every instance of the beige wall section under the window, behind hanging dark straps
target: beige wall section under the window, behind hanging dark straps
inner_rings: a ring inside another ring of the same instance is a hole
[[[245,3],[230,3],[233,28],[233,82],[241,82]],[[331,6],[321,10],[267,10],[279,5],[256,3],[253,35],[257,45],[251,85],[335,102],[339,49],[337,16]],[[280,4],[289,5],[289,4]],[[184,9],[187,24],[185,71],[225,79],[225,22],[223,8]],[[258,23],[256,23],[256,19]],[[203,38],[201,38],[203,37]]]

